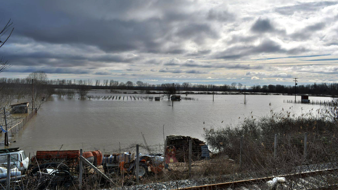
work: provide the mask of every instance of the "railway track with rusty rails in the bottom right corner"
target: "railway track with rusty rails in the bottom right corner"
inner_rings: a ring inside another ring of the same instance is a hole
[[[263,189],[294,189],[294,190],[314,190],[314,189],[335,189],[338,188],[338,168],[315,170],[299,173],[291,173],[279,176],[262,177],[250,180],[241,180],[234,182],[226,182],[219,184],[209,184],[194,187],[179,188],[179,190],[263,190]],[[275,177],[284,177],[285,183],[274,183],[269,185],[269,180]],[[328,183],[323,180],[323,177],[332,179],[334,183]],[[177,189],[172,189],[177,190]]]

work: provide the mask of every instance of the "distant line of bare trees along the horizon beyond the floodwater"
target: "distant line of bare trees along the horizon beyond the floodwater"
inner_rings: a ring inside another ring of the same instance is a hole
[[[0,84],[31,84],[30,78],[0,78]],[[66,79],[50,79],[45,81],[45,85],[52,88],[87,88],[87,89],[108,89],[108,90],[140,90],[146,93],[147,91],[165,90],[166,87],[172,83],[166,84],[149,84],[147,82],[127,81],[119,82],[117,80],[66,80]],[[189,93],[190,91],[215,91],[215,92],[244,92],[244,85],[241,83],[233,82],[231,85],[203,85],[191,84],[190,82],[183,82],[182,84],[174,83],[174,88],[178,91]],[[254,85],[246,87],[246,92],[255,93],[281,93],[281,94],[294,94],[295,86],[292,85]],[[314,83],[309,85],[297,85],[297,94],[313,94],[313,95],[338,95],[338,83]]]

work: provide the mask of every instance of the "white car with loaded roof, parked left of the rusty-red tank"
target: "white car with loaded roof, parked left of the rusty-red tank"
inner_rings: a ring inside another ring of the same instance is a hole
[[[0,149],[0,165],[7,167],[7,155],[10,154],[10,167],[17,167],[22,174],[28,168],[29,158],[20,148]]]

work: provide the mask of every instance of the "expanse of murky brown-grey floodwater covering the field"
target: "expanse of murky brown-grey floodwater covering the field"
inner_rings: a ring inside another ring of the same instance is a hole
[[[93,96],[132,96],[92,91]],[[136,94],[137,96],[158,96]],[[185,96],[185,95],[184,95]],[[236,125],[245,117],[259,117],[289,110],[295,115],[306,114],[319,105],[283,103],[294,96],[247,95],[188,95],[198,100],[128,100],[51,97],[19,134],[13,134],[10,147],[21,147],[27,152],[36,150],[100,149],[105,151],[127,147],[131,143],[164,144],[163,136],[185,135],[202,138],[204,127]],[[300,97],[297,97],[297,99]],[[309,97],[311,100],[329,100],[327,97]],[[271,105],[269,105],[271,103]],[[315,113],[315,111],[312,111]],[[223,123],[222,123],[223,121]],[[163,132],[164,125],[164,132]],[[164,134],[163,134],[164,133]],[[3,142],[3,135],[1,135]],[[13,142],[16,141],[16,142]],[[120,143],[120,144],[119,144]]]

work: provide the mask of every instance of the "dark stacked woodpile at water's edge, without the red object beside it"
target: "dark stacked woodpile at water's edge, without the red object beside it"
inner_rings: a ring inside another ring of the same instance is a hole
[[[167,136],[165,145],[174,146],[176,149],[176,158],[178,162],[186,162],[189,158],[189,140],[192,140],[192,160],[200,160],[206,157],[209,158],[208,145],[205,142],[192,138],[189,136],[180,136],[180,135],[170,135]],[[207,149],[207,151],[203,151]],[[208,155],[205,155],[203,152],[208,152]]]

